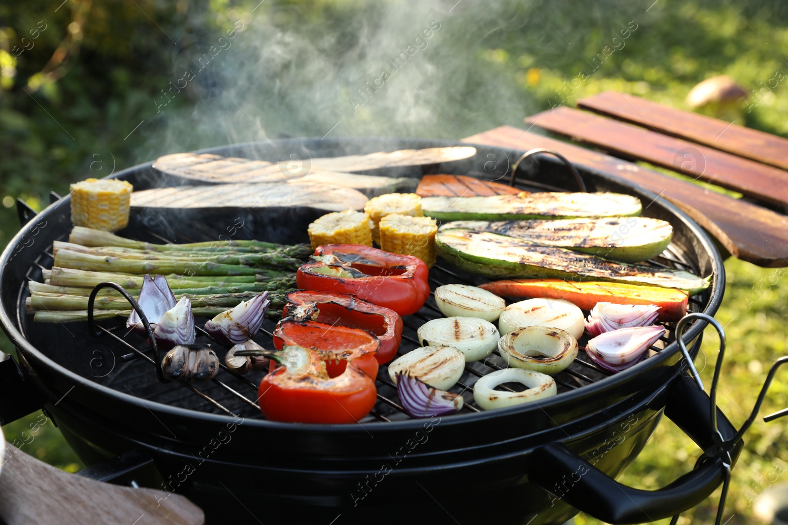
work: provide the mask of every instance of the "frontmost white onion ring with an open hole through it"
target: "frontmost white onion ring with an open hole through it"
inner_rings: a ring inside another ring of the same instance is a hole
[[[507,392],[495,390],[504,383],[522,383],[528,390]],[[496,370],[479,378],[474,385],[474,401],[485,410],[505,409],[556,395],[556,381],[549,375],[522,368]]]

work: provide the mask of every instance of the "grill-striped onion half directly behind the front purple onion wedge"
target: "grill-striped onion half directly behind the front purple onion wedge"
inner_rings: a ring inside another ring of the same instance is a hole
[[[398,357],[388,365],[388,375],[396,384],[397,375],[407,374],[438,390],[448,390],[465,370],[465,354],[452,346],[422,346]]]

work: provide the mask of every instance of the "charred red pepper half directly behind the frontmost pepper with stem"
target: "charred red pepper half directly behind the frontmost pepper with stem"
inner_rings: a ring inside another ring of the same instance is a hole
[[[370,378],[377,378],[375,354],[381,342],[368,331],[317,321],[283,319],[273,331],[273,346],[300,346],[310,349],[325,360],[329,377],[345,371],[348,362],[355,364]]]

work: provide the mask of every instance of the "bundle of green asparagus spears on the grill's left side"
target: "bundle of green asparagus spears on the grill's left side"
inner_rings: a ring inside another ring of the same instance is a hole
[[[296,269],[312,250],[307,245],[229,241],[152,244],[87,227],[74,227],[70,242],[55,241],[54,267],[44,283],[29,283],[28,312],[43,323],[87,320],[87,301],[95,285],[110,281],[135,296],[143,276],[164,275],[176,298],[188,297],[195,316],[215,316],[262,291],[281,316],[284,294],[296,287]],[[110,288],[99,290],[97,319],[127,316],[131,309]]]

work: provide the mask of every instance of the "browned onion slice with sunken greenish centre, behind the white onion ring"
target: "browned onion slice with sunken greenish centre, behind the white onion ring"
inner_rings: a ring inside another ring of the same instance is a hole
[[[560,328],[525,327],[500,338],[498,350],[509,366],[557,374],[578,357],[578,340]]]

